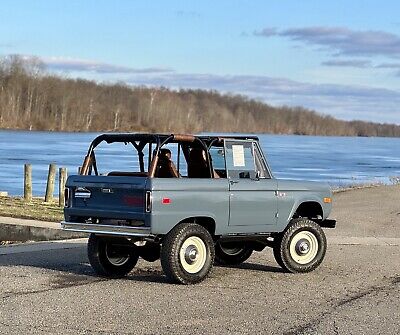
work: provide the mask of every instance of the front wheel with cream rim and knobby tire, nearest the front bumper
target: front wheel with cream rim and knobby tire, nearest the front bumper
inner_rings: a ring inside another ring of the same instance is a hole
[[[326,237],[321,227],[306,218],[292,220],[276,238],[273,247],[276,262],[292,273],[310,272],[323,261]]]

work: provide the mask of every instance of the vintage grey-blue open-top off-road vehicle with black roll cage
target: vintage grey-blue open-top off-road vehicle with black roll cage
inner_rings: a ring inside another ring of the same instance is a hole
[[[131,166],[101,171],[102,142],[125,144]],[[63,229],[90,233],[89,261],[109,277],[142,257],[161,259],[170,280],[193,284],[214,262],[240,264],[265,247],[284,270],[309,272],[325,256],[321,228],[336,224],[327,219],[329,187],[275,179],[251,136],[100,135],[65,193]]]

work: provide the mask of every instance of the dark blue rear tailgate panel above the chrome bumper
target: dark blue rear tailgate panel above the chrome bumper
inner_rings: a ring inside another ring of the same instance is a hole
[[[131,176],[70,176],[66,187],[67,217],[145,221],[148,178]]]

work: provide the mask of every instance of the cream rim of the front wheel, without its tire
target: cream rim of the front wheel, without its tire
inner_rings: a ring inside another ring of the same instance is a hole
[[[310,263],[318,253],[318,239],[310,231],[304,230],[293,236],[290,241],[290,256],[298,264]]]

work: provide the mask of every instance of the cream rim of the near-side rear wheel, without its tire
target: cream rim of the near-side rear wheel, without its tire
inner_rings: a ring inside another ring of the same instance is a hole
[[[186,272],[199,272],[204,267],[206,259],[207,248],[200,237],[191,236],[183,242],[179,251],[179,260]]]

